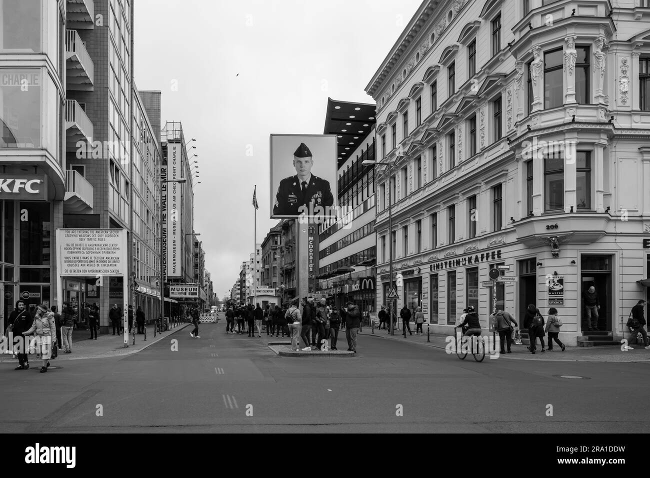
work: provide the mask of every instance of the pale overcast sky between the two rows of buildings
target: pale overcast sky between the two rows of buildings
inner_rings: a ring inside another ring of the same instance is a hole
[[[196,139],[194,228],[218,297],[253,252],[255,184],[257,242],[277,224],[269,135],[322,134],[328,97],[374,103],[364,88],[420,3],[135,1],[135,82]]]

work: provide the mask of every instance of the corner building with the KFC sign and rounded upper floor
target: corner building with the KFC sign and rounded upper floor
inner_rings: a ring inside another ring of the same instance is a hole
[[[69,5],[0,2],[2,330],[16,300],[25,297],[32,312],[40,302],[54,304],[55,231],[63,223],[66,197]],[[91,13],[92,7],[75,28],[92,29]],[[83,127],[83,135],[92,136],[88,125]]]

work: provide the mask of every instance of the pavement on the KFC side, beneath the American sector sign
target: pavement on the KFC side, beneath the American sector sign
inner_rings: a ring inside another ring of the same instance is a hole
[[[90,332],[88,330],[77,329],[73,331],[72,340],[72,353],[65,354],[59,350],[59,357],[54,360],[81,360],[85,358],[107,358],[135,354],[136,352],[143,351],[150,345],[153,345],[159,340],[168,338],[170,335],[183,330],[183,328],[192,325],[191,323],[181,323],[172,330],[156,334],[153,337],[153,324],[147,326],[147,339],[144,340],[144,335],[135,336],[135,345],[133,344],[133,336],[129,335],[129,347],[124,347],[124,336],[113,336],[112,334],[100,334],[97,340],[90,340]],[[83,334],[83,336],[81,335]],[[86,339],[83,339],[86,338]],[[30,360],[36,360],[35,355],[29,356]],[[11,358],[11,354],[2,354],[0,357],[0,364],[18,363],[18,359]]]

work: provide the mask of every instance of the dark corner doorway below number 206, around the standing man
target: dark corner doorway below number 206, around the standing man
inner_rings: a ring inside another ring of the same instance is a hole
[[[580,323],[582,330],[587,328],[587,314],[584,293],[595,287],[600,309],[598,310],[598,329],[612,330],[612,256],[580,256]]]

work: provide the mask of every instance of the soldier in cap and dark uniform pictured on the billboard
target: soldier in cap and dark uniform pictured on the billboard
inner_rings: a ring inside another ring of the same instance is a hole
[[[312,215],[317,207],[326,211],[333,206],[334,196],[330,182],[311,174],[314,158],[304,142],[293,153],[296,174],[280,181],[273,206],[274,216],[298,216],[303,212]],[[325,215],[325,212],[323,212]]]

